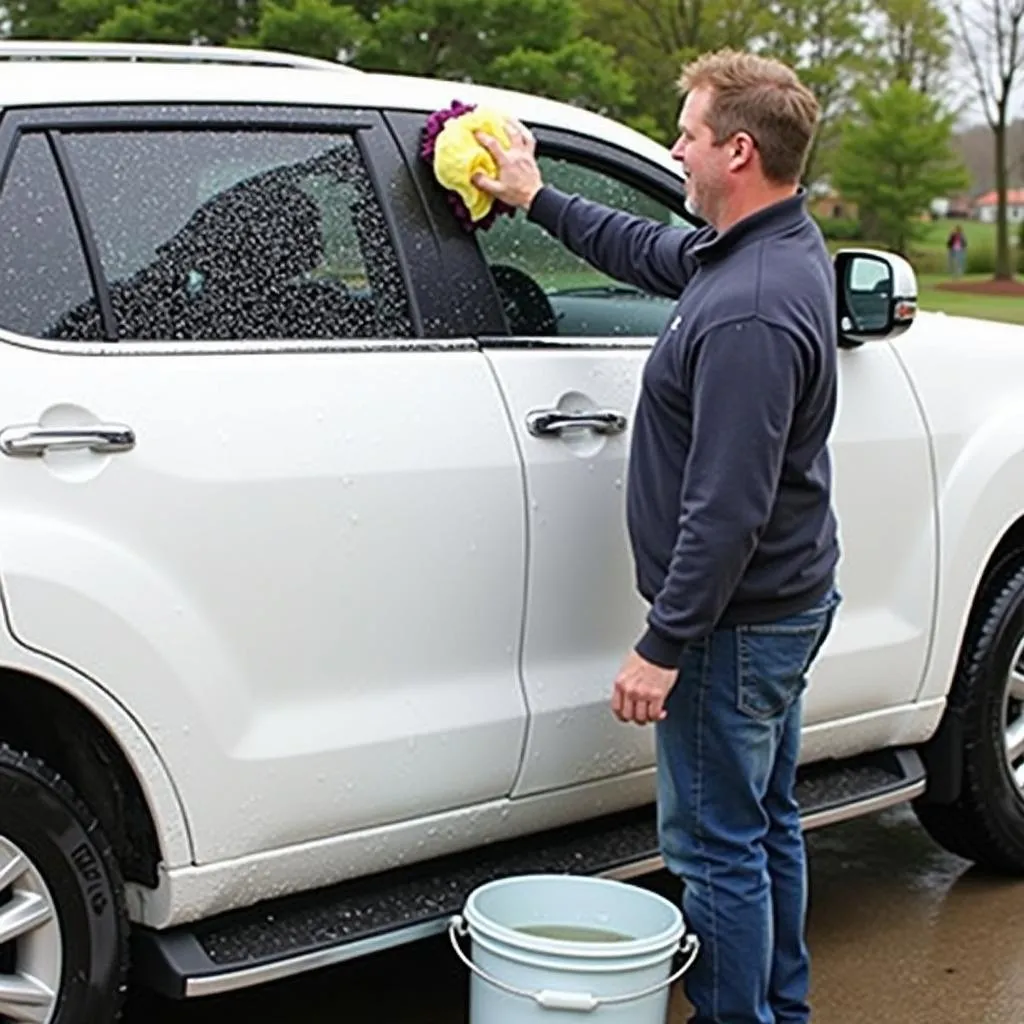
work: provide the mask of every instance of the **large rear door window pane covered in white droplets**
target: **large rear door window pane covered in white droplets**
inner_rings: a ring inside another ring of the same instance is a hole
[[[69,134],[120,338],[413,333],[380,206],[350,135]]]

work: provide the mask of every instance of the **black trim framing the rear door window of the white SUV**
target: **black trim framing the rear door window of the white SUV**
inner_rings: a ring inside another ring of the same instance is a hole
[[[113,310],[105,275],[99,264],[98,247],[89,227],[88,216],[82,202],[80,189],[71,172],[71,165],[61,145],[60,133],[76,133],[94,130],[109,132],[116,130],[160,130],[187,131],[288,131],[303,130],[328,132],[350,132],[359,150],[367,168],[371,187],[387,225],[389,237],[395,248],[398,271],[410,306],[413,323],[412,336],[387,340],[382,349],[394,347],[423,347],[431,339],[449,336],[447,310],[438,302],[436,269],[427,265],[422,258],[413,258],[423,247],[436,246],[436,239],[426,218],[426,214],[415,194],[402,195],[402,185],[408,185],[408,171],[396,142],[388,130],[385,120],[377,110],[369,108],[321,106],[303,104],[273,103],[98,103],[83,106],[59,108],[7,108],[0,115],[0,189],[3,188],[20,136],[29,132],[42,132],[50,140],[51,150],[57,161],[57,168],[68,193],[72,212],[79,230],[82,251],[86,258],[90,280],[96,291],[102,311],[105,340],[95,342],[70,342],[81,350],[84,345],[116,346],[116,327],[112,332]],[[396,215],[395,205],[402,204],[402,216]],[[93,260],[96,262],[93,263]],[[98,273],[98,278],[96,274]],[[111,321],[108,321],[110,315]],[[350,343],[341,347],[367,350],[361,339],[349,339]],[[131,342],[134,345],[134,342]],[[147,346],[164,346],[164,342],[139,342]],[[295,347],[323,350],[323,341],[295,342],[291,345],[268,346],[266,343],[238,346],[210,347],[201,341],[175,342],[175,350],[188,352],[204,351],[250,351],[281,350]],[[46,347],[51,347],[47,345]],[[62,347],[62,346],[61,346]],[[458,348],[465,346],[444,346]]]

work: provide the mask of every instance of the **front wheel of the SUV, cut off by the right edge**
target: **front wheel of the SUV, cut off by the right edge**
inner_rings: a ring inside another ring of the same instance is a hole
[[[915,801],[918,819],[951,853],[1024,873],[1024,782],[1014,777],[1024,779],[1024,557],[1004,563],[972,611],[946,714],[962,726],[959,795]]]

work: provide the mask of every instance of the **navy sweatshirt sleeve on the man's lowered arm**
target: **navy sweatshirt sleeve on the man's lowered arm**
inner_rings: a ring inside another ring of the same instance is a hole
[[[715,628],[754,554],[803,389],[798,343],[781,327],[737,321],[698,344],[678,538],[636,645],[665,668],[678,667],[686,642]]]

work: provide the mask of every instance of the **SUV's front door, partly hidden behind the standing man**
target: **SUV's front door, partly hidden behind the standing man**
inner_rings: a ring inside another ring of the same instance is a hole
[[[546,181],[686,224],[679,181],[664,168],[594,138],[531,128]],[[501,334],[477,336],[508,403],[528,503],[529,726],[513,791],[524,797],[654,763],[652,730],[620,724],[609,700],[647,610],[625,528],[630,425],[643,364],[674,303],[608,281],[522,217],[499,218],[472,246],[506,322]],[[885,344],[842,352],[840,377],[833,456],[845,600],[812,676],[808,727],[912,699],[934,595],[928,440],[910,388]],[[898,507],[879,501],[887,490]]]

